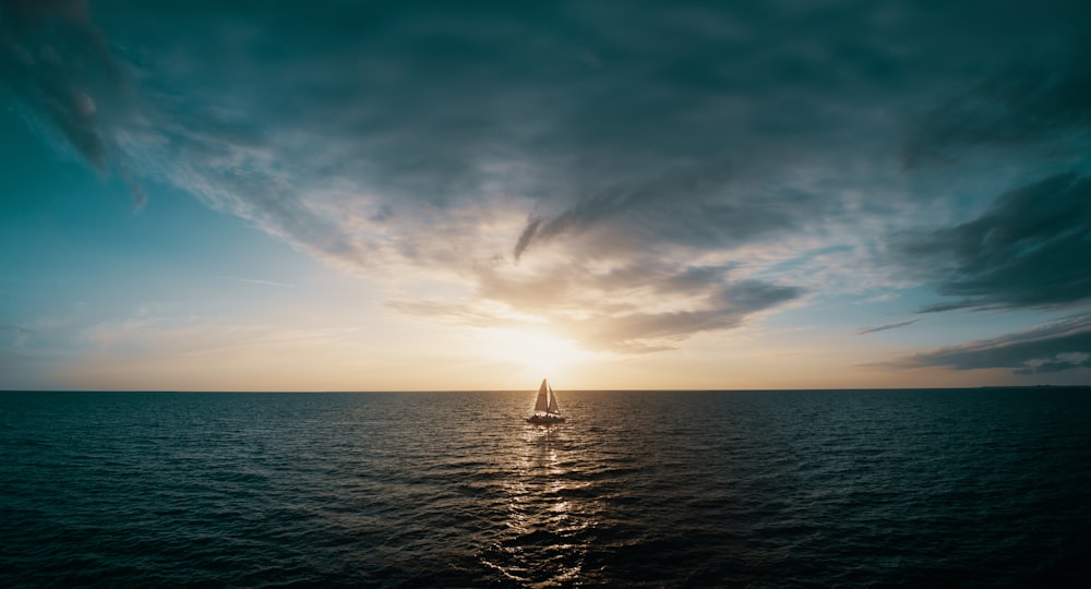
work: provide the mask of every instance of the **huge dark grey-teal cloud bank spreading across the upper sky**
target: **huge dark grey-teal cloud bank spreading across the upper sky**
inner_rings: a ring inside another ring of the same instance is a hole
[[[921,163],[1072,152],[1088,123],[1082,3],[3,7],[5,80],[96,167],[166,179],[336,264],[452,269],[559,322],[579,301],[598,323],[568,324],[602,346],[668,346],[796,300],[726,260],[877,239],[861,217],[920,199],[890,187]],[[60,65],[25,59],[46,47]],[[972,238],[955,233],[903,257]],[[944,292],[1028,297],[1002,262],[975,264],[949,266]]]

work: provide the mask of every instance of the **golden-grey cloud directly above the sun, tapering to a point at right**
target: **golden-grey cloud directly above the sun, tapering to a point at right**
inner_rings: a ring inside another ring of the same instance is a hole
[[[477,327],[544,324],[591,349],[640,353],[674,349],[699,333],[736,328],[805,294],[798,287],[733,279],[724,268],[678,272],[654,261],[604,272],[564,264],[521,278],[485,273],[481,293],[489,302],[392,304]]]

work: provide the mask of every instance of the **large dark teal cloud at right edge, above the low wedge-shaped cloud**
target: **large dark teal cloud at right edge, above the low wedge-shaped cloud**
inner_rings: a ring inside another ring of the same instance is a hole
[[[901,236],[900,262],[959,300],[924,309],[1072,304],[1091,298],[1091,178],[1058,175],[1000,195],[981,217]]]

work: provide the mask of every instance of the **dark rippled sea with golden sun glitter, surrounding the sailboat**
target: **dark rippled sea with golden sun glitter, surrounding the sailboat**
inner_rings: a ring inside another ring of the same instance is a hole
[[[1087,587],[1091,390],[0,394],[0,586]]]

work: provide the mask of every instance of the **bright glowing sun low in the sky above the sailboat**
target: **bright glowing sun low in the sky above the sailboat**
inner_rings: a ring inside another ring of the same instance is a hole
[[[481,344],[483,353],[518,366],[530,378],[561,375],[588,357],[575,341],[543,329],[493,328],[483,335]]]

